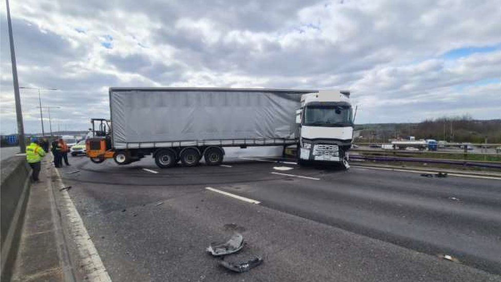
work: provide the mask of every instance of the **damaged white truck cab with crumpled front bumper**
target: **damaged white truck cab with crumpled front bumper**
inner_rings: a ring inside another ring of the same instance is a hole
[[[353,110],[349,91],[322,91],[301,96],[298,163],[333,162],[349,167]]]

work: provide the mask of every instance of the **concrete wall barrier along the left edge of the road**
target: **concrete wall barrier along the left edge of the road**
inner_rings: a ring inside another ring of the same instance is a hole
[[[1,279],[10,280],[21,239],[26,204],[30,192],[31,168],[24,156],[2,160],[0,186],[1,208]]]

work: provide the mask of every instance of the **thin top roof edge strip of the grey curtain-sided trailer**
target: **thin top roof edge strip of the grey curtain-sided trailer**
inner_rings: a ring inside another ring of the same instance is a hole
[[[241,91],[241,92],[287,92],[287,93],[314,93],[312,89],[273,89],[273,88],[218,88],[218,87],[110,87],[110,92],[117,91]]]

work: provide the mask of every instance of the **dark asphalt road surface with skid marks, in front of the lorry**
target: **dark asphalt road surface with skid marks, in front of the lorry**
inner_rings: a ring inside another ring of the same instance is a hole
[[[247,159],[70,162],[63,181],[115,281],[501,280],[499,180]],[[246,246],[233,259],[263,265],[229,273],[205,252],[235,231]]]

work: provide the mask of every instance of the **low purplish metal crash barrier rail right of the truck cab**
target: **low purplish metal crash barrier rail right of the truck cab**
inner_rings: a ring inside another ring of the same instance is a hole
[[[360,155],[350,155],[350,159],[352,159],[352,160],[370,160],[370,161],[440,163],[440,164],[454,164],[454,165],[476,166],[476,167],[487,167],[487,168],[501,169],[501,163],[484,162],[484,161],[440,160],[440,159],[404,158],[404,157],[374,157],[374,156],[360,156]]]

